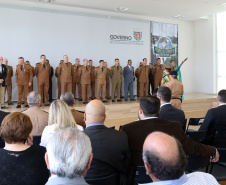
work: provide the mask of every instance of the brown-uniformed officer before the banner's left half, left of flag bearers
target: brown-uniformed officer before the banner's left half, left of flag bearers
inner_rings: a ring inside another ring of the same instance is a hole
[[[161,86],[161,81],[162,81],[162,75],[163,75],[163,65],[161,64],[161,59],[157,59],[157,64],[154,65],[154,68],[152,70],[152,74],[154,76],[154,84],[155,84],[155,89]]]

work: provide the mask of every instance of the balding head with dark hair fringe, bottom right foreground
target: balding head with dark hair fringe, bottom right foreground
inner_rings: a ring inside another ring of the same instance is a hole
[[[153,132],[146,138],[143,160],[153,182],[179,179],[187,165],[180,142],[162,132]]]

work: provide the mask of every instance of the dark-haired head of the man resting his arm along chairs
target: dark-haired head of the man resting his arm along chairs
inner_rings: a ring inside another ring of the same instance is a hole
[[[140,99],[139,119],[145,117],[158,117],[160,100],[155,96],[145,96]]]

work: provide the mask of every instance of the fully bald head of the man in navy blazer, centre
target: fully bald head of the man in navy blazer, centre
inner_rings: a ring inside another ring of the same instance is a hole
[[[84,119],[86,126],[92,123],[104,123],[105,106],[100,100],[92,100],[86,105]]]

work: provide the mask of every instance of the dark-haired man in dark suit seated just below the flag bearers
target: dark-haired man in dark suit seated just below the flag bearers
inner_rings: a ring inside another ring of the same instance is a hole
[[[170,88],[159,87],[157,97],[160,99],[161,107],[159,118],[169,121],[179,121],[183,129],[186,127],[184,111],[173,107],[170,103],[172,92]]]

